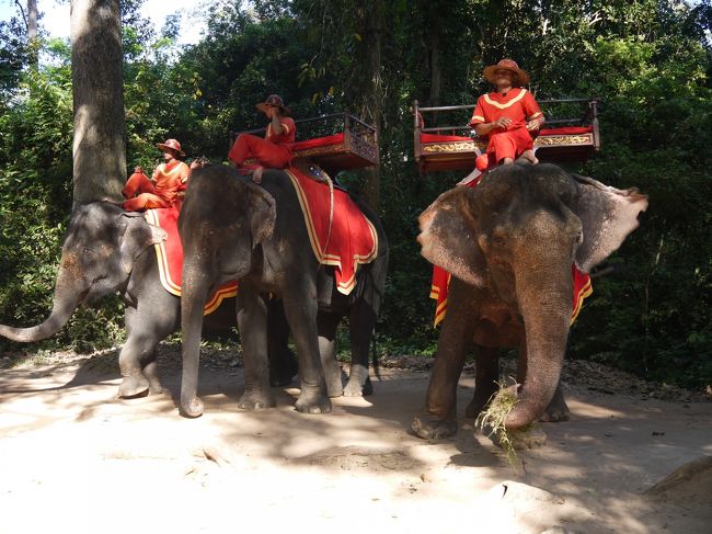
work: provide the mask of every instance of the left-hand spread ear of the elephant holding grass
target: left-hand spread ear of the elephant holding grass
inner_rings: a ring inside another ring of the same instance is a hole
[[[456,188],[438,196],[418,217],[421,254],[458,279],[484,286],[486,264],[478,245],[475,191]]]

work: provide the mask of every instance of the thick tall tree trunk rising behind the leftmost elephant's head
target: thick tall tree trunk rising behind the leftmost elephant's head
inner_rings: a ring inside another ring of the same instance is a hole
[[[122,198],[126,178],[118,0],[71,0],[74,206]]]

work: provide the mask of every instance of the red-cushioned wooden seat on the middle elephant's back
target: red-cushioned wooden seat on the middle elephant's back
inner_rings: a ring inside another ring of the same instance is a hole
[[[334,113],[295,121],[298,140],[294,145],[296,166],[317,163],[330,174],[379,164],[375,126],[348,113]],[[264,134],[265,128],[230,132],[230,146],[241,134]],[[245,161],[251,163],[251,161]]]

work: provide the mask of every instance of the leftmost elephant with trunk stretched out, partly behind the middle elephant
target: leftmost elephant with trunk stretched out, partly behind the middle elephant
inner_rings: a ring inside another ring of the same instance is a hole
[[[126,306],[127,333],[118,357],[123,377],[118,396],[130,398],[148,391],[160,393],[156,348],[179,329],[181,317],[181,298],[161,285],[156,248],[151,247],[164,237],[164,231],[149,225],[141,213],[125,212],[107,202],[79,206],[72,213],[65,236],[49,317],[30,328],[0,325],[0,336],[19,342],[49,338],[66,325],[78,306],[118,292]],[[230,332],[236,323],[234,300],[225,299],[216,311],[205,317],[207,330]],[[271,302],[269,308],[271,383],[286,385],[297,373],[297,362],[287,346],[289,332],[283,327],[279,303]],[[332,315],[325,313],[324,321],[331,323]],[[370,332],[369,329],[358,336],[368,337]],[[335,359],[324,365],[330,376],[341,379]],[[341,382],[334,379],[330,387],[330,395],[340,395]],[[352,384],[348,391],[366,395],[370,391],[370,383],[365,380],[363,389]]]

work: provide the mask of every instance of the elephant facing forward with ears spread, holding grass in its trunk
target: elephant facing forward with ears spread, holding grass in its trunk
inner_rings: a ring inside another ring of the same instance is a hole
[[[589,272],[622,245],[646,208],[647,197],[635,189],[618,190],[549,163],[502,166],[476,188],[436,198],[418,218],[417,241],[422,255],[451,279],[413,431],[425,439],[455,434],[456,388],[472,344],[468,417],[497,389],[498,348],[518,346],[518,401],[505,428],[522,430],[546,411],[563,419],[567,408],[558,384],[573,309],[572,263]]]

